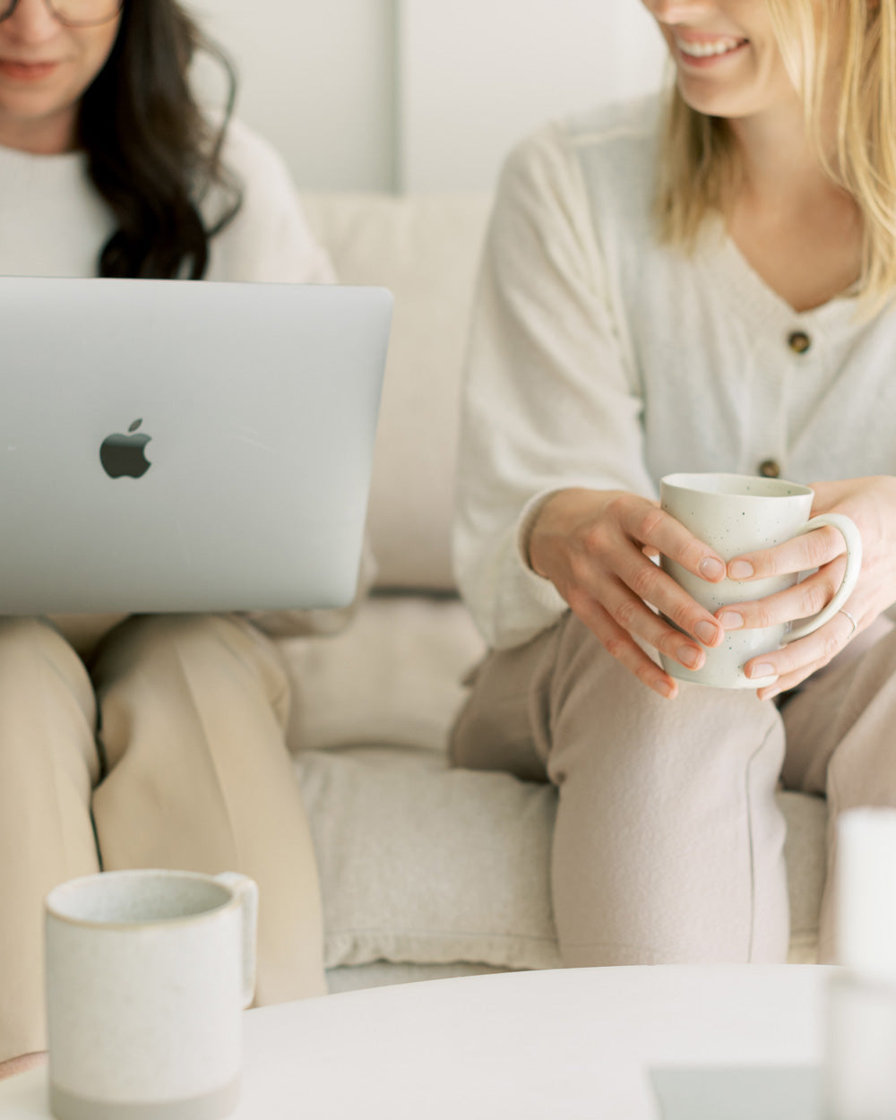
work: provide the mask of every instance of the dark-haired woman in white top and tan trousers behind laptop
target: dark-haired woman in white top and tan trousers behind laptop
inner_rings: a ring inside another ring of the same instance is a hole
[[[333,279],[280,158],[231,105],[215,124],[197,106],[200,48],[175,0],[0,0],[0,272]],[[263,633],[301,622],[0,622],[7,1073],[45,1046],[43,898],[101,868],[252,876],[256,1000],[325,991],[289,682]]]

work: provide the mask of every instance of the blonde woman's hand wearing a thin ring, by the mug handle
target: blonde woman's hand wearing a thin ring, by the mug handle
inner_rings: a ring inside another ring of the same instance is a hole
[[[794,688],[827,665],[857,633],[896,603],[896,477],[880,475],[811,486],[815,492],[813,517],[820,513],[846,514],[861,534],[861,571],[844,605],[857,628],[853,632],[849,618],[838,612],[813,634],[748,661],[744,666],[747,676],[777,675],[774,684],[758,690],[760,700]],[[749,573],[744,564],[752,569]],[[833,598],[846,569],[843,538],[836,529],[824,526],[773,549],[736,557],[728,563],[728,578],[749,582],[812,568],[818,571],[787,590],[721,607],[716,617],[729,631],[774,626],[818,614]]]

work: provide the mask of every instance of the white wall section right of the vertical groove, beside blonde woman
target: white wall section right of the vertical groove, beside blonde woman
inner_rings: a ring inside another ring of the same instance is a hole
[[[399,0],[400,181],[491,184],[551,116],[656,88],[664,57],[638,0]]]

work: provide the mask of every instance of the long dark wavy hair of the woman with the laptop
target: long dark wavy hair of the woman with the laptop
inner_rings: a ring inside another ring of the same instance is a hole
[[[194,54],[224,67],[227,103],[212,129],[189,86]],[[78,143],[87,171],[118,228],[100,252],[103,277],[199,280],[208,241],[240,208],[239,185],[221,164],[233,110],[233,67],[176,0],[125,0],[121,26],[102,71],[84,93]],[[211,227],[198,205],[220,188]]]

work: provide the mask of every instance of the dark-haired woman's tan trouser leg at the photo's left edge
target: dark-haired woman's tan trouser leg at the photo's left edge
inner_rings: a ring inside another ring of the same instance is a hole
[[[0,619],[0,1062],[44,1049],[43,902],[99,870],[90,679],[48,624]]]

